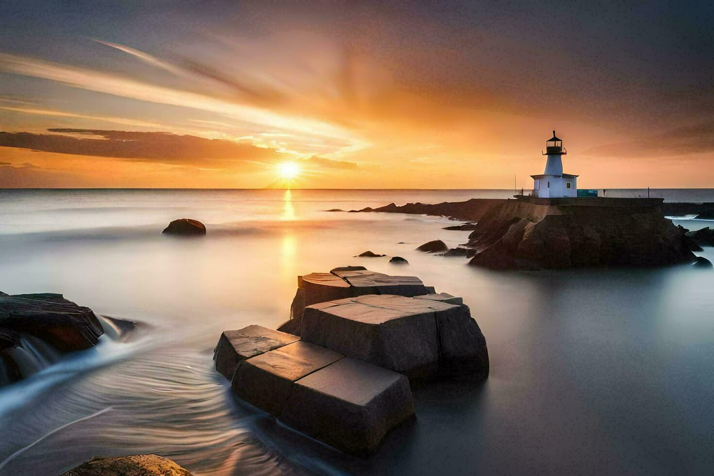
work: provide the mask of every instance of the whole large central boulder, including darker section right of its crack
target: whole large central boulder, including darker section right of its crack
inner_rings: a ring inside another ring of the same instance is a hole
[[[301,338],[403,373],[488,375],[486,340],[465,305],[451,295],[363,295],[305,308]],[[459,372],[461,365],[463,372]]]

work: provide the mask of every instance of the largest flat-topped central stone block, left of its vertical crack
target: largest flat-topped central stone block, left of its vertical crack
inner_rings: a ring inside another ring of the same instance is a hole
[[[436,373],[436,313],[458,306],[396,295],[364,295],[305,308],[301,338],[409,378]]]

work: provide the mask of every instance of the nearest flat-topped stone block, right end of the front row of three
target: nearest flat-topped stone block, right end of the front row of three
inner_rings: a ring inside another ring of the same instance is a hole
[[[346,357],[297,380],[280,420],[343,452],[368,455],[413,414],[404,375]]]

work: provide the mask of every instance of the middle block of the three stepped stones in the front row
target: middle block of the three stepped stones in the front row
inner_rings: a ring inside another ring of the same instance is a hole
[[[293,392],[293,382],[343,357],[318,345],[298,341],[243,360],[233,375],[231,388],[251,405],[280,415]]]

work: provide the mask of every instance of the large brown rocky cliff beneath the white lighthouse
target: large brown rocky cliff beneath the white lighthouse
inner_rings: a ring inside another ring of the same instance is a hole
[[[659,206],[545,205],[510,200],[469,236],[470,264],[496,269],[654,266],[695,258]]]

